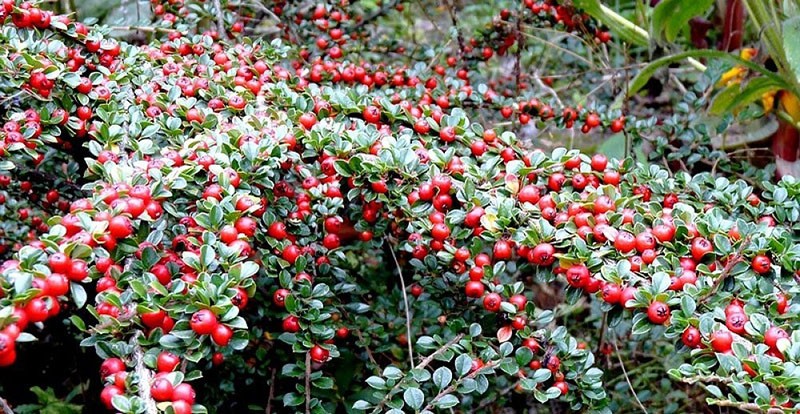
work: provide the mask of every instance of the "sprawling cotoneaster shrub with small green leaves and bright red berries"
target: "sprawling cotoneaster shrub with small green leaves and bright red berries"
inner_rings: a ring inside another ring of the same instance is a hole
[[[480,411],[510,390],[609,412],[593,351],[616,339],[559,326],[542,298],[563,289],[673,341],[687,363],[668,374],[710,405],[800,404],[791,177],[757,196],[545,153],[432,106],[414,75],[315,79],[277,41],[137,46],[3,6],[0,366],[85,307],[70,320],[119,412],[204,412],[191,384],[242,352],[275,412]],[[624,126],[541,105],[542,122]]]

